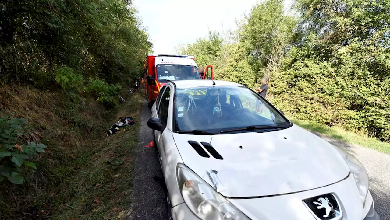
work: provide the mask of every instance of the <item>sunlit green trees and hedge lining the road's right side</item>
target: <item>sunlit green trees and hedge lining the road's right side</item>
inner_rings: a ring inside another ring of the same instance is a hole
[[[215,65],[218,79],[255,88],[269,76],[268,99],[298,119],[389,142],[390,1],[297,0],[294,7],[299,18],[283,11],[282,0],[256,4],[219,50],[208,50],[209,37],[187,51]]]

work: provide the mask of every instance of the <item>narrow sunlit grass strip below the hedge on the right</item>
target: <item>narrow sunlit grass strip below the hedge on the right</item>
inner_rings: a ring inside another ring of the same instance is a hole
[[[314,121],[298,120],[294,117],[288,117],[291,121],[300,127],[303,127],[312,132],[318,132],[329,137],[333,137],[349,144],[360,145],[367,148],[375,149],[379,152],[390,154],[390,143],[384,143],[374,137],[369,137],[365,134],[346,131],[340,127],[328,127]]]

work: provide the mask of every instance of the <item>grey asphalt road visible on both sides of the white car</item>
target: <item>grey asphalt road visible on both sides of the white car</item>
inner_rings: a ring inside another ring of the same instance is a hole
[[[146,125],[149,117],[150,110],[145,102],[142,107],[140,144],[135,161],[134,199],[127,214],[129,220],[168,218],[165,183],[158,155],[154,148],[145,147],[152,141],[152,132]],[[360,160],[369,174],[375,209],[381,220],[390,220],[390,155],[321,134],[316,135],[345,149]]]

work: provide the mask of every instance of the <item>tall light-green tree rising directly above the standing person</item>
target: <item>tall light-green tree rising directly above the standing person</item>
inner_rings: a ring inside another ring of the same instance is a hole
[[[284,14],[283,0],[266,0],[255,5],[246,19],[248,22],[242,32],[242,41],[248,58],[254,69],[258,73],[264,69],[269,79],[271,73],[276,73],[282,65],[295,21]]]

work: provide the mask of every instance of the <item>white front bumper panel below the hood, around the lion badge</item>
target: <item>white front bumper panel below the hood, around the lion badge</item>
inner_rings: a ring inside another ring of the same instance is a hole
[[[327,187],[308,190],[305,192],[279,195],[257,199],[228,199],[252,220],[316,220],[308,211],[302,200],[317,195],[334,193],[343,211],[343,220],[362,220],[372,204],[371,194],[363,208],[353,175],[346,180]]]

